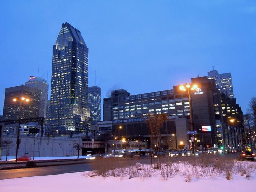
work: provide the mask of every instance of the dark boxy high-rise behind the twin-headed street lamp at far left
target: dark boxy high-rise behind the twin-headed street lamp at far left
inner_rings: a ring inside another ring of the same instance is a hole
[[[19,119],[20,102],[19,99],[25,97],[29,102],[22,103],[21,119],[36,118],[39,116],[39,103],[41,91],[28,87],[16,86],[5,89],[5,101],[3,106],[3,119],[15,120]],[[13,99],[17,98],[16,102]]]

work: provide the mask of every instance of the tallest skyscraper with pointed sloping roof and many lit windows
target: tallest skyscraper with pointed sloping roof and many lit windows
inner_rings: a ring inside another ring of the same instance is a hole
[[[79,30],[63,23],[53,46],[48,124],[83,132],[89,125],[87,108],[88,48]]]

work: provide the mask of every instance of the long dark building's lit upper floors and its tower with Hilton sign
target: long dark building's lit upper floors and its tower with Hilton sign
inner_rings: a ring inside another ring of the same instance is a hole
[[[191,85],[198,85],[196,90],[190,91],[193,129],[197,130],[196,137],[200,138],[197,144],[204,147],[223,146],[225,135],[222,95],[216,88],[215,81],[207,77],[198,77],[191,79]],[[226,98],[225,95],[223,97]],[[180,90],[180,86],[174,86],[170,90],[131,95],[120,89],[113,90],[111,96],[103,100],[104,121],[121,123],[146,117],[149,113],[190,119],[187,91]],[[239,113],[241,114],[240,111]]]

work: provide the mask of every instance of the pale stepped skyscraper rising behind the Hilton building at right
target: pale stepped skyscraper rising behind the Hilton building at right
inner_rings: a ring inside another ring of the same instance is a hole
[[[215,79],[216,87],[229,98],[234,98],[231,73],[219,74],[217,70],[208,72],[208,79]]]

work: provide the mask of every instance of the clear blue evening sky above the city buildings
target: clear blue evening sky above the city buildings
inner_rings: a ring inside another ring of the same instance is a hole
[[[1,1],[0,109],[4,89],[29,76],[51,81],[52,46],[62,23],[89,48],[89,86],[131,94],[171,89],[231,72],[245,113],[256,96],[256,1]],[[50,93],[50,92],[49,92]]]

